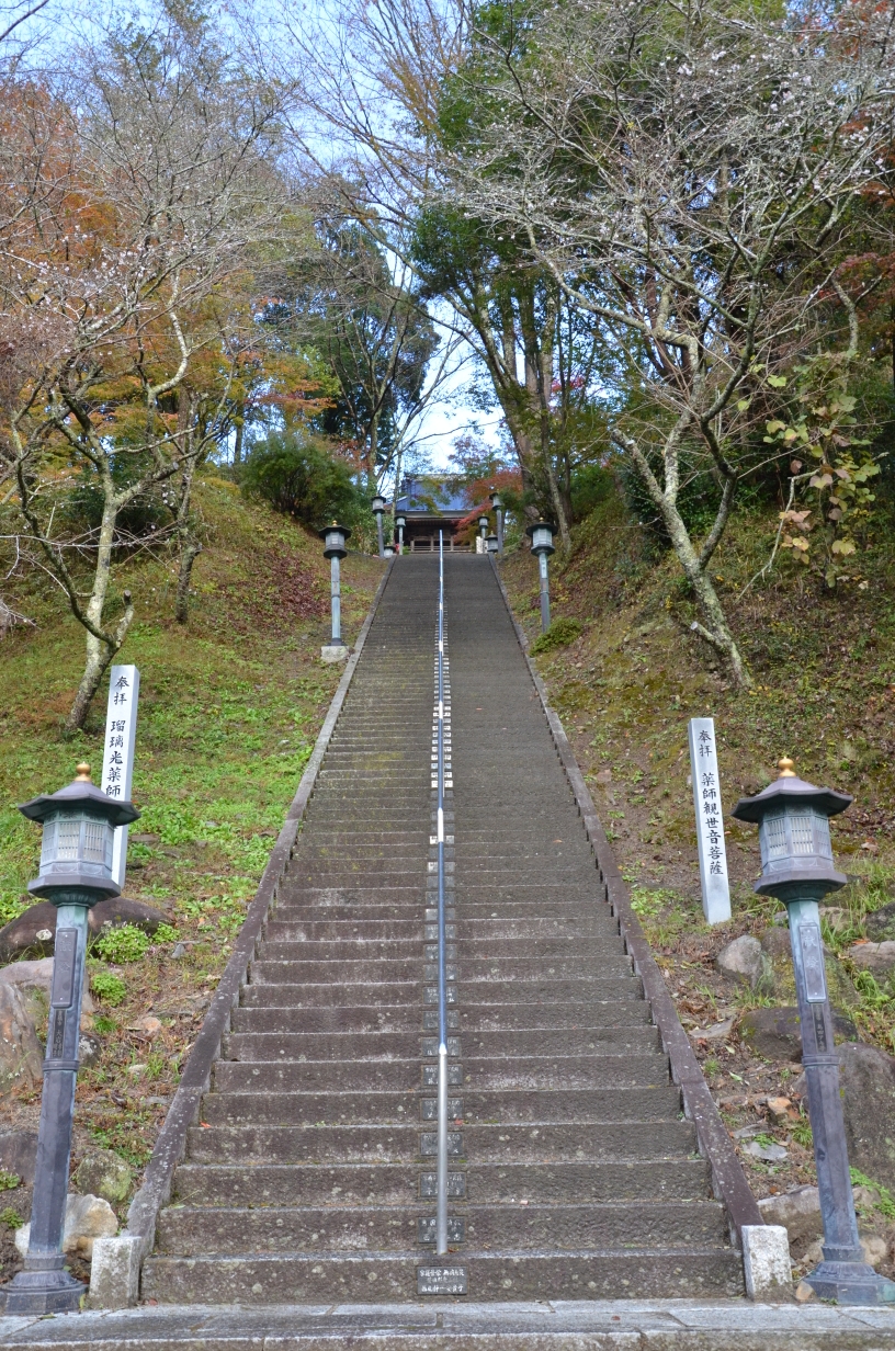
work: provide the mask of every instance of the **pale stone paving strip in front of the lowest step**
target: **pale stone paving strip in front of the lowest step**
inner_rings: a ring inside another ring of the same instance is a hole
[[[427,1305],[164,1305],[0,1319],[0,1347],[42,1351],[873,1351],[895,1310],[745,1301],[594,1300]]]

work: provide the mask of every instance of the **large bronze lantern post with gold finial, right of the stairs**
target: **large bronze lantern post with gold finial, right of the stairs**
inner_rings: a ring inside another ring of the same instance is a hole
[[[806,784],[788,758],[779,767],[780,777],[756,797],[740,798],[733,815],[758,825],[761,877],[756,892],[776,896],[790,916],[802,1065],[823,1220],[823,1260],[804,1279],[821,1300],[892,1304],[895,1283],[864,1259],[857,1232],[818,912],[818,901],[848,881],[833,865],[830,816],[844,812],[852,798]]]

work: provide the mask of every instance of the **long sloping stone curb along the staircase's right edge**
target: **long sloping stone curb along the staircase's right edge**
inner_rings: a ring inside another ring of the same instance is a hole
[[[737,1248],[742,1250],[744,1242],[746,1247],[750,1243],[750,1233],[748,1231],[764,1225],[761,1210],[758,1209],[758,1204],[752,1194],[749,1183],[746,1182],[740,1159],[737,1158],[737,1151],[727,1133],[727,1128],[721,1120],[721,1115],[715,1106],[715,1100],[711,1096],[708,1085],[706,1084],[703,1073],[699,1067],[699,1061],[694,1054],[692,1046],[690,1044],[690,1038],[680,1025],[673,1000],[669,996],[662,974],[656,965],[656,958],[653,957],[649,943],[646,942],[641,923],[631,909],[631,898],[627,885],[619,873],[610,842],[606,838],[603,825],[596,815],[594,800],[587,784],[584,782],[584,775],[581,774],[581,769],[575,758],[575,751],[572,750],[572,746],[565,735],[560,716],[550,708],[546,686],[534,669],[534,663],[529,655],[529,639],[512,613],[507,588],[503,585],[503,578],[500,577],[493,559],[491,561],[491,566],[493,567],[500,593],[507,607],[507,613],[510,615],[516,638],[519,639],[519,646],[522,647],[525,659],[529,665],[531,680],[534,681],[534,686],[541,698],[541,705],[550,725],[550,732],[553,734],[553,742],[560,759],[562,761],[562,766],[575,794],[575,801],[577,802],[579,812],[581,813],[581,819],[584,821],[584,830],[587,831],[587,836],[594,847],[596,866],[600,881],[603,882],[604,898],[611,907],[612,915],[619,921],[625,946],[631,957],[631,961],[634,962],[634,970],[644,984],[644,993],[646,994],[653,1011],[653,1021],[658,1027],[662,1047],[665,1048],[665,1054],[671,1062],[672,1078],[681,1090],[684,1115],[696,1128],[699,1152],[708,1161],[715,1196],[718,1200],[723,1201],[727,1212],[731,1240]],[[745,1235],[744,1229],[746,1231]],[[756,1286],[754,1297],[760,1298],[761,1293],[760,1288]]]

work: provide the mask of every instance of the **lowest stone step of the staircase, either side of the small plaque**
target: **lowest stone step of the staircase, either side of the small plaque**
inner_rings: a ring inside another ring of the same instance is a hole
[[[245,1305],[320,1301],[416,1302],[418,1252],[155,1256],[143,1266],[142,1294],[158,1304]],[[661,1246],[635,1252],[569,1250],[535,1254],[464,1251],[476,1300],[718,1298],[742,1294],[742,1259],[730,1248]],[[531,1346],[531,1343],[530,1343]]]

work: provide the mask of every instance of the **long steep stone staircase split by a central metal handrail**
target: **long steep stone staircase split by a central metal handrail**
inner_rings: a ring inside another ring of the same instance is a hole
[[[437,555],[396,559],[143,1298],[416,1300],[434,1258]],[[491,563],[445,559],[450,1263],[476,1301],[742,1294]]]

